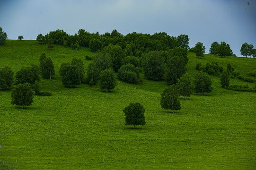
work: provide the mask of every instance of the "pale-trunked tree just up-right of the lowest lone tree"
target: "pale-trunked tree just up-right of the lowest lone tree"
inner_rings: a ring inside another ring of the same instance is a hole
[[[161,94],[161,107],[166,110],[180,110],[181,105],[177,99],[178,91],[176,85],[171,85],[167,87]]]

